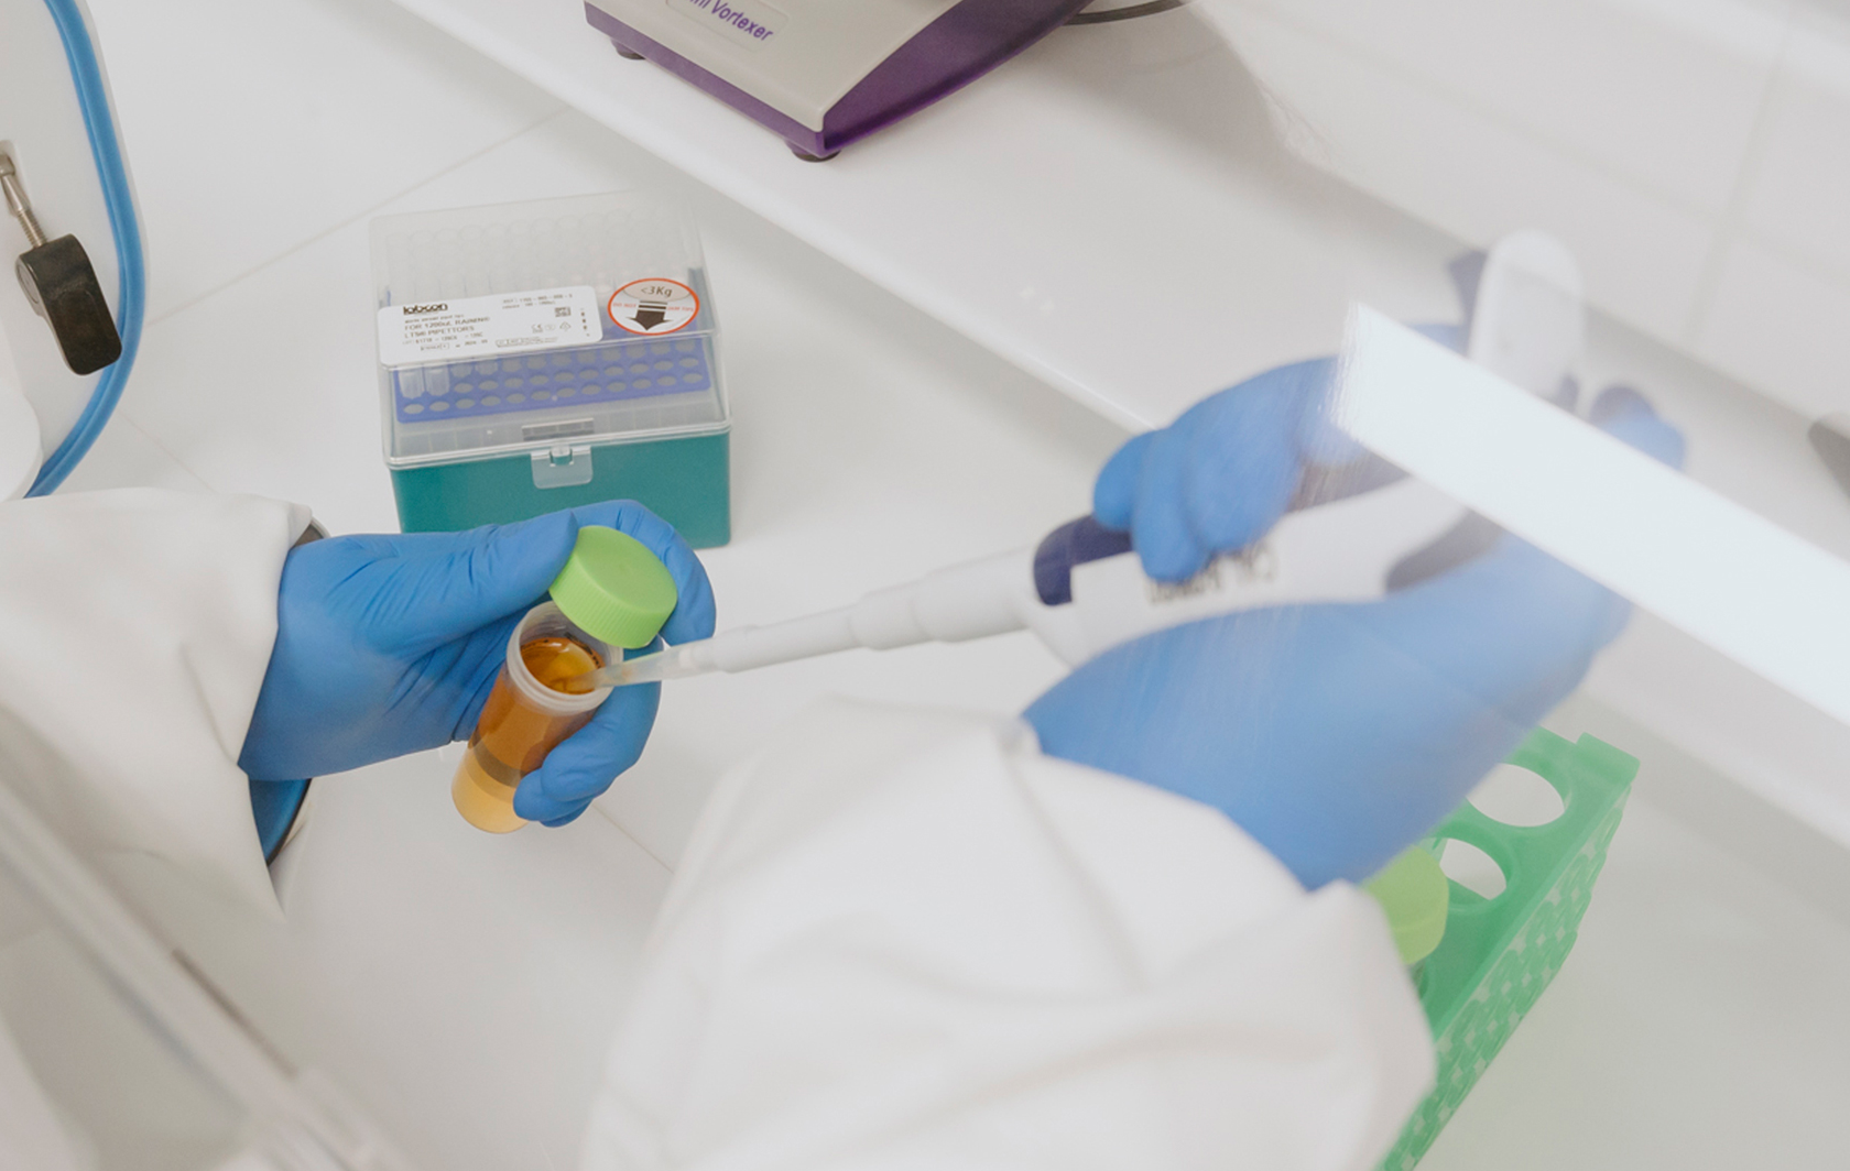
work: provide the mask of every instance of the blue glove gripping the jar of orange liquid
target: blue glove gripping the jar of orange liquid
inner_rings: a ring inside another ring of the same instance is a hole
[[[239,766],[257,779],[320,777],[466,738],[509,633],[546,599],[581,525],[629,533],[673,573],[668,642],[712,635],[699,559],[633,501],[468,533],[316,540],[283,564],[276,649]],[[659,684],[612,692],[520,783],[514,812],[546,825],[585,812],[642,755],[659,699]]]

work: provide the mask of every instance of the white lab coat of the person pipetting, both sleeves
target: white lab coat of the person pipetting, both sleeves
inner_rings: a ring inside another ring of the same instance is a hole
[[[155,855],[279,914],[237,755],[303,524],[0,505],[0,707],[70,757],[26,795],[105,873]],[[1363,1171],[1430,1075],[1367,895],[1018,720],[836,701],[709,803],[581,1167]]]

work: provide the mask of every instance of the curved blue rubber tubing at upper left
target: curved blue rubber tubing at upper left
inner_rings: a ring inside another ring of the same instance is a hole
[[[141,257],[141,224],[135,222],[135,196],[128,185],[128,168],[122,165],[115,117],[109,113],[109,91],[104,87],[104,70],[96,63],[89,24],[85,24],[76,0],[44,0],[44,6],[52,9],[57,35],[65,41],[65,59],[70,63],[70,80],[78,87],[83,128],[91,135],[91,157],[96,161],[104,205],[109,209],[109,231],[115,235],[117,246],[117,333],[122,335],[122,357],[104,370],[83,414],[78,416],[65,442],[57,444],[57,451],[52,451],[39,466],[39,477],[31,481],[31,490],[26,496],[44,496],[65,483],[70,470],[102,435],[117,400],[122,398],[122,383],[128,381],[128,372],[135,364],[146,307],[146,274]]]

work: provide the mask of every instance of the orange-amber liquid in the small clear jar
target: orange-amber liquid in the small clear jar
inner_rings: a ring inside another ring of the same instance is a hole
[[[568,696],[562,683],[585,672],[596,672],[603,660],[596,651],[564,635],[546,635],[520,646],[520,660],[540,684]],[[533,707],[507,677],[501,666],[488,703],[475,721],[468,755],[457,768],[450,795],[457,812],[475,829],[505,834],[525,825],[514,812],[514,790],[520,779],[540,768],[546,753],[561,740],[590,723],[596,709],[555,716]]]

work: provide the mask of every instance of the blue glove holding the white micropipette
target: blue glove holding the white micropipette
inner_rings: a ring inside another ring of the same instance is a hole
[[[1251,388],[1258,401],[1232,401]],[[1310,451],[1315,403],[1291,396],[1317,392],[1304,366],[1273,370],[1130,440],[1099,477],[1099,520],[1128,524],[1156,577],[1249,544],[1291,499]],[[1608,392],[1593,420],[1682,462],[1682,437],[1635,392]],[[1027,720],[1053,757],[1227,812],[1306,886],[1360,881],[1452,812],[1628,612],[1504,535],[1382,601],[1147,635],[1075,670]]]

